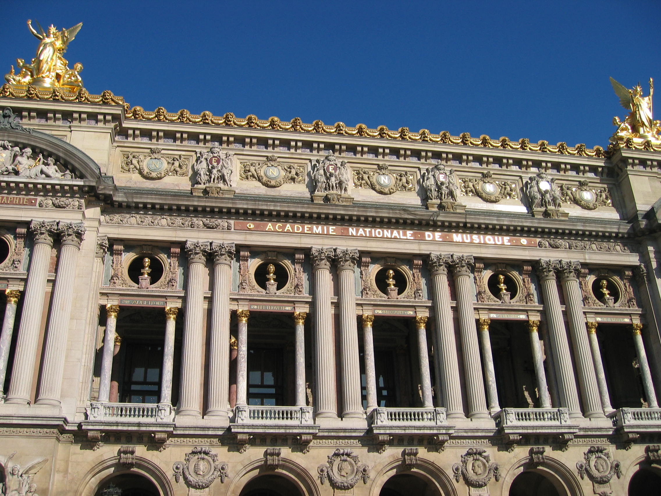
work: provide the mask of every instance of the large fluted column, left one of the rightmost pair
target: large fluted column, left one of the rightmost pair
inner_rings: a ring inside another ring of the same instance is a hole
[[[537,274],[544,299],[544,311],[549,331],[549,341],[553,350],[553,362],[557,374],[557,386],[560,406],[569,410],[570,417],[582,417],[578,403],[578,391],[574,378],[574,366],[569,351],[567,331],[564,328],[563,311],[555,278],[555,271],[560,268],[559,261],[540,260]]]

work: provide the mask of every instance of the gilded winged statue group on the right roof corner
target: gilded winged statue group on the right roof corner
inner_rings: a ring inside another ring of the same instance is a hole
[[[619,117],[613,117],[613,124],[617,131],[611,140],[617,138],[639,138],[641,140],[661,141],[661,122],[652,117],[652,95],[654,94],[654,81],[650,77],[650,95],[642,96],[642,87],[638,83],[633,89],[627,89],[612,77],[611,85],[620,99],[620,104],[629,110],[624,122]]]

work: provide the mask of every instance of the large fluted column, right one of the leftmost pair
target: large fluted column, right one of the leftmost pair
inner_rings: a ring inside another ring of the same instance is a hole
[[[71,320],[73,287],[78,265],[78,253],[85,235],[83,222],[58,222],[60,239],[58,272],[53,286],[46,345],[42,362],[37,405],[59,405],[62,391],[67,335]]]

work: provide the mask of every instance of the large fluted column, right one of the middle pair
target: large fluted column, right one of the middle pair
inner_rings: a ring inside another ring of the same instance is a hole
[[[364,419],[360,394],[360,352],[356,320],[356,272],[358,250],[336,248],[339,279],[340,364],[342,378],[342,417]]]

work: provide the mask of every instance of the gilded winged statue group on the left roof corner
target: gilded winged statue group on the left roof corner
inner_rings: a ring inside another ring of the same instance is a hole
[[[51,24],[45,32],[42,26],[36,23],[39,31],[32,27],[32,21],[28,20],[28,29],[39,40],[36,56],[30,63],[23,59],[17,59],[17,74],[14,66],[9,74],[5,75],[5,81],[15,85],[34,85],[44,88],[61,87],[69,91],[78,91],[83,87],[80,72],[83,65],[77,62],[73,69],[69,69],[69,62],[62,56],[67,51],[69,42],[78,34],[83,23],[79,22],[73,28],[58,29]]]

